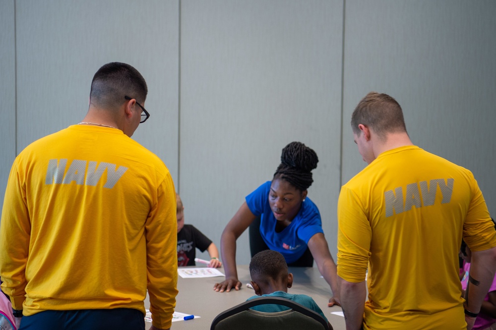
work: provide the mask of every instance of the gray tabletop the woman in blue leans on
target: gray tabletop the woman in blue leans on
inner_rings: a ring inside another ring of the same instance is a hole
[[[219,270],[224,273],[222,268]],[[324,315],[331,323],[334,330],[344,330],[344,318],[331,314],[331,312],[341,311],[341,307],[327,307],[327,302],[331,297],[331,289],[317,268],[290,268],[290,273],[294,275],[293,287],[288,289],[289,293],[306,294],[315,300],[317,305],[322,309]],[[234,307],[255,293],[246,286],[250,281],[248,266],[238,266],[238,277],[243,283],[239,291],[215,292],[213,286],[215,283],[224,280],[224,277],[205,277],[205,278],[178,278],[179,294],[176,298],[176,312],[193,314],[199,316],[193,320],[178,321],[172,323],[172,330],[182,329],[210,329],[213,319],[221,312]],[[148,308],[149,303],[145,301]],[[151,327],[151,323],[145,323],[146,329]]]

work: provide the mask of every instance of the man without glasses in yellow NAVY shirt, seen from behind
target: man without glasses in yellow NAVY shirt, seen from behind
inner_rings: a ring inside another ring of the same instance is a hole
[[[362,99],[351,125],[369,165],[338,201],[346,329],[472,329],[496,268],[496,232],[477,181],[414,146],[401,107],[386,94]],[[462,237],[476,251],[466,300],[458,277]]]

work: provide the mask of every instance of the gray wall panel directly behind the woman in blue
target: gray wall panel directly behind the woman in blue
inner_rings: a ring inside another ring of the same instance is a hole
[[[245,196],[301,141],[331,252],[339,192],[341,1],[182,1],[181,195],[217,245]],[[249,262],[248,232],[238,263]]]

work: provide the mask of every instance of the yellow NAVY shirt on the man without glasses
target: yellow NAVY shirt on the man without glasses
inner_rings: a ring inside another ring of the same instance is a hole
[[[337,274],[365,280],[364,329],[464,329],[461,239],[496,246],[472,173],[418,147],[380,154],[338,202]]]

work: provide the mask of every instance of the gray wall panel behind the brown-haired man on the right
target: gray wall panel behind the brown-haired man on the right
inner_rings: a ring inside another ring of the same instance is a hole
[[[365,163],[351,113],[370,91],[402,106],[421,148],[469,168],[496,214],[496,2],[347,1],[343,183]]]

